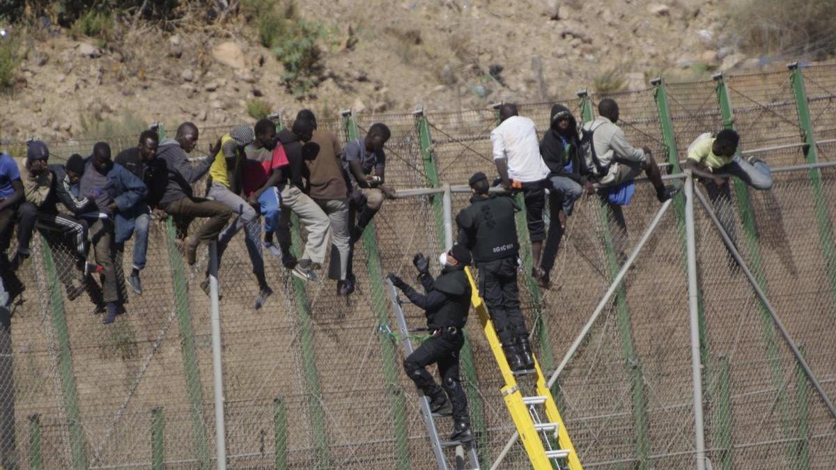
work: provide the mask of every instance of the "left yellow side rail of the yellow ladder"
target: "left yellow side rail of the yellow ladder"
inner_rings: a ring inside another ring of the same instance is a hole
[[[499,343],[497,330],[493,328],[491,317],[487,314],[487,307],[485,306],[482,297],[479,296],[479,289],[473,281],[473,274],[470,268],[465,268],[467,280],[471,284],[471,302],[473,309],[479,315],[479,323],[482,324],[482,330],[487,337],[487,343],[491,346],[494,358],[497,360],[499,370],[502,372],[502,378],[505,380],[505,386],[502,387],[502,400],[511,414],[511,419],[514,421],[514,426],[517,427],[520,440],[523,441],[528,459],[531,461],[534,470],[551,470],[552,463],[546,457],[546,448],[543,447],[543,441],[540,439],[537,430],[533,426],[531,416],[528,414],[528,407],[523,401],[523,393],[517,387],[517,379],[514,378],[511,367],[505,358],[505,353],[502,352],[502,345]],[[561,426],[562,427],[562,426]]]

